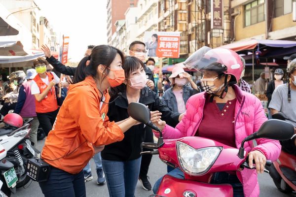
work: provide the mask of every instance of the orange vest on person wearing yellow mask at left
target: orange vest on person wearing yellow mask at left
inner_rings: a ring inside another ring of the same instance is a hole
[[[46,75],[48,77],[48,81],[54,80],[53,75],[50,72],[46,72]],[[44,90],[47,88],[47,85],[41,80],[39,74],[36,75],[36,77],[33,79],[37,86],[40,89],[40,94],[44,92]],[[57,96],[55,92],[54,86],[51,88],[50,91],[48,91],[46,97],[42,99],[40,102],[38,102],[35,99],[36,103],[36,112],[37,113],[47,113],[52,112],[58,109],[58,102],[57,102]]]

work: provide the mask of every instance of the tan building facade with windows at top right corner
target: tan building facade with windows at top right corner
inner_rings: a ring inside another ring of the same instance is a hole
[[[285,39],[295,41],[293,0],[231,0],[234,10],[235,41]]]

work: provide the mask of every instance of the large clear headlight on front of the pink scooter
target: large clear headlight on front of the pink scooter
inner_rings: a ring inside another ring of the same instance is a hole
[[[206,173],[222,151],[222,147],[219,146],[194,149],[180,141],[177,141],[176,145],[179,164],[190,175]]]

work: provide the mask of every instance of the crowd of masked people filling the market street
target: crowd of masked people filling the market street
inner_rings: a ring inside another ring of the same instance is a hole
[[[147,151],[142,150],[142,142],[154,141],[153,131],[129,117],[131,102],[147,105],[151,121],[165,139],[202,136],[238,148],[247,133],[258,131],[266,121],[261,102],[243,80],[245,61],[237,53],[202,47],[200,54],[190,56],[185,66],[203,75],[197,85],[182,67],[175,67],[167,77],[154,73],[155,60],[146,60],[149,45],[132,42],[129,56],[112,46],[89,45],[76,67],[63,65],[42,45],[45,59],[36,59],[26,74],[13,72],[10,84],[5,74],[1,75],[1,115],[13,110],[24,120],[34,118],[33,145],[37,144],[38,127],[47,136],[41,158],[51,165],[51,173],[47,181],[39,183],[45,197],[85,197],[85,182],[93,179],[91,158],[96,164],[97,184],[107,181],[111,197],[134,197],[138,180],[143,189],[152,189],[148,177],[152,156],[140,153]],[[261,73],[255,88],[266,93],[270,117],[283,112],[296,126],[293,57],[288,61],[287,83],[284,70],[278,68],[268,85]],[[9,89],[12,91],[6,94]],[[230,183],[235,197],[259,196],[257,173],[263,172],[267,159],[277,159],[281,145],[267,139],[258,139],[257,144],[245,146],[248,162],[253,165],[255,160],[256,170],[243,170],[239,177],[219,172],[211,183]],[[167,171],[184,179],[180,168],[168,166]],[[154,193],[160,181],[155,183]]]

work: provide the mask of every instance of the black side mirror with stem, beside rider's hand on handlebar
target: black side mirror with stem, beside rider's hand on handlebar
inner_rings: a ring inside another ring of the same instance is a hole
[[[294,126],[286,121],[271,119],[264,122],[259,131],[246,137],[238,152],[239,158],[244,158],[244,143],[257,138],[288,140],[294,135]]]

